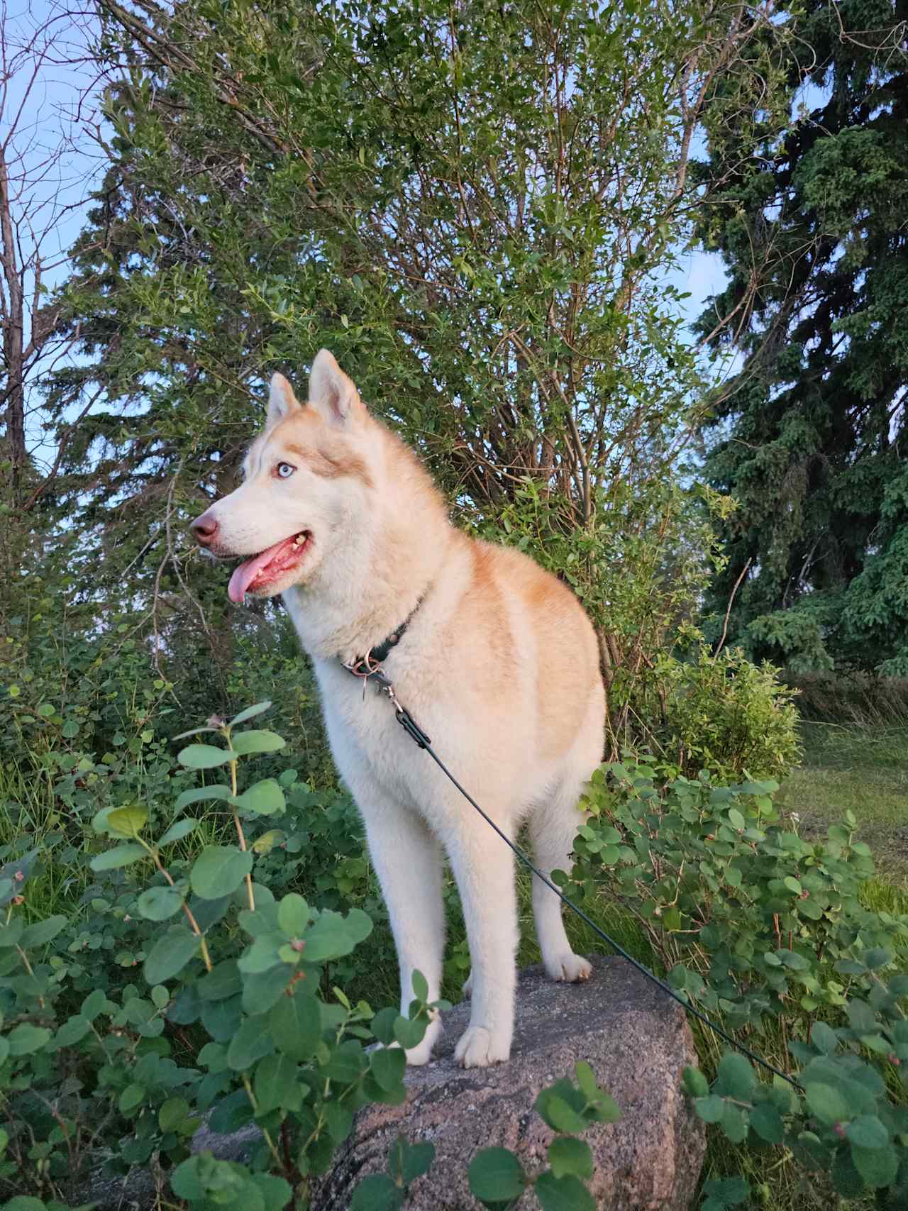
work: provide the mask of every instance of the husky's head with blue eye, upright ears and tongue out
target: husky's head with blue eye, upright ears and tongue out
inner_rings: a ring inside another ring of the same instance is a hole
[[[368,509],[373,421],[327,349],[312,362],[300,404],[275,374],[264,431],[243,461],[245,482],[191,523],[196,541],[222,559],[241,558],[228,590],[272,597],[310,580],[341,534]]]

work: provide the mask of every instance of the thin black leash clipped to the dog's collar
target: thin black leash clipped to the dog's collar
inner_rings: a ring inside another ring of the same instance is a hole
[[[413,613],[415,614],[415,610]],[[413,618],[413,614],[410,614],[410,618]],[[397,636],[397,638],[393,641],[395,643],[400,641],[400,637],[407,629],[410,618],[408,618],[407,622],[404,622],[403,626],[398,627],[398,630],[395,632],[395,635]],[[425,748],[425,751],[436,763],[442,774],[444,774],[444,776],[460,791],[466,802],[471,807],[476,808],[476,810],[479,813],[485,823],[489,825],[489,827],[493,828],[499,834],[501,840],[517,855],[518,861],[521,861],[527,867],[527,869],[531,871],[538,879],[541,879],[547,888],[554,891],[554,894],[558,896],[562,903],[567,905],[573,913],[580,917],[580,919],[585,922],[598,937],[600,937],[608,946],[610,946],[616,954],[620,954],[622,959],[627,959],[631,966],[634,968],[637,971],[639,971],[640,975],[645,976],[646,980],[650,980],[654,985],[656,985],[657,988],[661,988],[662,992],[667,993],[672,998],[672,1000],[676,1000],[682,1006],[685,1014],[690,1014],[693,1017],[696,1017],[699,1022],[702,1022],[703,1026],[708,1026],[709,1029],[713,1031],[713,1033],[718,1034],[720,1039],[724,1039],[725,1043],[729,1043],[742,1055],[746,1055],[748,1060],[752,1060],[754,1063],[765,1068],[766,1072],[771,1072],[774,1077],[780,1077],[782,1080],[787,1081],[789,1085],[793,1085],[795,1089],[801,1090],[803,1092],[804,1086],[800,1084],[800,1081],[797,1081],[793,1077],[789,1077],[786,1073],[780,1072],[780,1069],[775,1068],[768,1060],[764,1060],[762,1056],[758,1056],[755,1051],[751,1051],[748,1046],[746,1046],[743,1043],[740,1043],[736,1038],[729,1034],[728,1031],[723,1029],[722,1026],[718,1026],[716,1022],[712,1021],[712,1018],[707,1017],[706,1014],[701,1012],[699,1009],[691,1005],[690,1001],[684,1000],[684,998],[680,997],[674,991],[674,988],[671,987],[671,985],[667,985],[663,980],[660,980],[657,975],[655,975],[653,971],[649,970],[649,968],[644,966],[643,963],[634,959],[632,954],[628,954],[627,951],[623,948],[623,946],[616,942],[615,939],[611,937],[609,934],[607,934],[604,929],[600,929],[599,925],[597,925],[596,922],[592,920],[584,912],[582,908],[579,908],[573,900],[570,900],[568,896],[564,895],[561,888],[556,886],[554,883],[552,883],[552,880],[547,876],[542,874],[539,867],[536,867],[533,863],[533,861],[523,853],[519,845],[516,845],[507,836],[507,833],[502,832],[502,830],[499,828],[495,821],[483,811],[483,809],[479,807],[476,799],[467,791],[464,790],[460,782],[458,782],[458,780],[454,777],[452,771],[441,759],[438,753],[436,753],[436,751],[432,748],[432,741],[430,736],[427,736],[426,733],[419,727],[416,721],[413,718],[409,711],[401,704],[400,699],[397,698],[395,688],[391,684],[391,679],[381,667],[381,661],[378,660],[375,655],[379,652],[384,652],[384,655],[381,656],[381,659],[384,660],[387,655],[387,652],[390,652],[391,647],[392,644],[389,644],[387,648],[385,648],[385,644],[381,644],[380,648],[374,649],[374,653],[368,652],[364,656],[360,656],[351,665],[345,664],[344,668],[346,668],[349,673],[352,673],[354,677],[360,677],[364,682],[375,683],[375,685],[379,688],[379,691],[384,694],[385,698],[393,706],[397,722],[401,724],[401,727],[410,737],[410,740],[413,740],[416,745],[419,745],[420,748]]]

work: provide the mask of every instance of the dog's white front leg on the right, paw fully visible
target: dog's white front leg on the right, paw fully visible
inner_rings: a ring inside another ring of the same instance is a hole
[[[511,855],[479,817],[448,839],[470,942],[470,1026],[454,1049],[464,1068],[510,1058],[517,983],[517,899]]]

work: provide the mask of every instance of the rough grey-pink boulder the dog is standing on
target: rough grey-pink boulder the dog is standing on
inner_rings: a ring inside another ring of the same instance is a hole
[[[314,1190],[311,1211],[346,1211],[357,1183],[386,1169],[398,1135],[435,1144],[429,1172],[410,1186],[408,1211],[475,1211],[467,1165],[479,1148],[504,1147],[524,1170],[546,1165],[552,1131],[533,1103],[586,1060],[622,1118],[584,1136],[593,1153],[588,1183],[608,1211],[688,1211],[703,1161],[703,1125],[680,1087],[696,1063],[684,1011],[623,959],[593,959],[585,983],[552,983],[541,968],[521,972],[511,1060],[464,1071],[454,1044],[467,1025],[469,1001],[446,1015],[436,1057],[407,1072],[402,1106],[368,1106],[332,1171]],[[521,1211],[538,1206],[527,1192]]]

